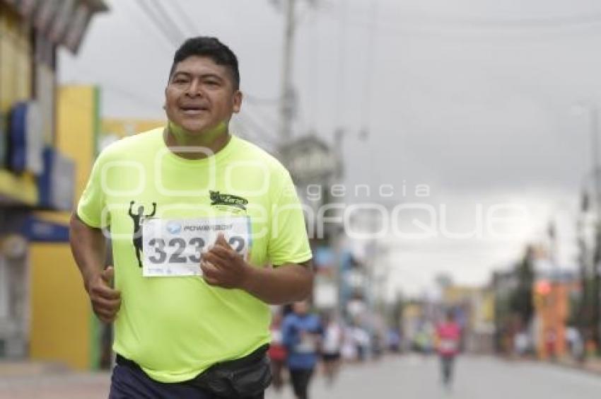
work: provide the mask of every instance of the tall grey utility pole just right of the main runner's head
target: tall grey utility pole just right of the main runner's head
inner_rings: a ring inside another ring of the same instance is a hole
[[[292,137],[292,120],[296,108],[296,93],[292,85],[294,33],[296,32],[296,0],[284,0],[284,52],[281,71],[280,139],[286,144]]]

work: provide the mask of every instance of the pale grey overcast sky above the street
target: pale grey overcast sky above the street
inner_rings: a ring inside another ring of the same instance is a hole
[[[163,118],[177,45],[141,4],[107,1],[77,57],[63,53],[62,83],[103,88],[103,115]],[[331,140],[342,127],[346,184],[389,184],[395,197],[448,208],[453,231],[473,229],[479,207],[525,207],[511,239],[387,239],[393,285],[419,294],[437,272],[486,282],[530,241],[559,224],[559,259],[573,267],[579,187],[591,169],[589,114],[601,101],[601,4],[594,0],[298,0],[295,134]],[[184,35],[216,35],[240,59],[249,101],[236,127],[277,139],[284,16],[269,0],[161,1]],[[186,18],[180,15],[185,12]],[[188,21],[189,20],[189,21]],[[165,20],[165,24],[169,25]],[[252,100],[252,101],[250,101]],[[368,138],[358,132],[368,129]],[[413,195],[428,185],[426,199]],[[353,190],[351,190],[352,192]]]

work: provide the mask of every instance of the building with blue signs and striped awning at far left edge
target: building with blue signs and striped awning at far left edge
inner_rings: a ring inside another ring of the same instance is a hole
[[[0,359],[30,356],[34,243],[68,239],[64,220],[40,213],[69,212],[74,197],[75,163],[57,143],[57,50],[75,54],[106,10],[0,0]]]

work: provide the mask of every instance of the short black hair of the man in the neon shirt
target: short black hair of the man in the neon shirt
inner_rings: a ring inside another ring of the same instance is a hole
[[[169,80],[173,76],[177,63],[188,57],[209,57],[217,65],[222,65],[230,70],[234,90],[240,88],[240,71],[238,71],[238,58],[230,47],[224,45],[216,37],[197,36],[187,39],[173,57],[173,64],[169,71]]]

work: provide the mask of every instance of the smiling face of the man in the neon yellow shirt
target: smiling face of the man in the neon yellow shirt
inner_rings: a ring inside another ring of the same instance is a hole
[[[242,93],[234,89],[227,67],[209,57],[177,63],[165,88],[168,119],[193,134],[227,127],[241,103]]]

